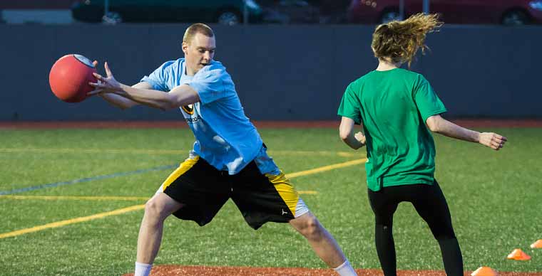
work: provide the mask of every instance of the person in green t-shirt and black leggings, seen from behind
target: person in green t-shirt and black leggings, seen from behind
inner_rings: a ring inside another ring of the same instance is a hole
[[[411,202],[439,242],[449,276],[463,275],[463,259],[451,215],[434,179],[435,146],[431,132],[491,149],[501,149],[506,137],[460,127],[441,117],[446,107],[419,73],[400,68],[410,65],[426,33],[442,22],[436,14],[416,14],[404,21],[377,26],[372,50],[376,70],[350,83],[338,115],[341,139],[352,149],[367,145],[367,186],[375,216],[375,243],[385,276],[397,275],[392,235],[393,215],[402,201]],[[362,124],[356,132],[354,124]],[[431,131],[431,132],[430,132]]]

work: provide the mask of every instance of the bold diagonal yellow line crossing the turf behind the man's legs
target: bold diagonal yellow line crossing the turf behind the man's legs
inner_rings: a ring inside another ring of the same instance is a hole
[[[342,163],[339,163],[339,164],[333,164],[333,165],[329,165],[329,166],[321,166],[319,168],[310,169],[310,170],[307,170],[307,171],[297,171],[297,172],[292,173],[292,174],[287,174],[286,176],[288,178],[290,178],[290,179],[293,179],[293,178],[295,178],[297,176],[306,176],[306,175],[309,175],[309,174],[317,174],[317,173],[322,172],[322,171],[329,171],[329,170],[332,170],[332,169],[343,168],[345,166],[353,166],[353,165],[357,165],[357,164],[362,164],[362,163],[365,163],[365,161],[367,161],[367,159],[356,159],[356,160],[352,160],[352,161],[342,162]],[[306,192],[309,193],[309,194],[316,193],[315,191],[306,191]],[[145,208],[145,205],[136,205],[136,206],[130,206],[130,207],[127,207],[127,208],[122,208],[122,209],[118,209],[118,210],[114,210],[114,211],[110,211],[110,212],[106,212],[106,213],[97,213],[96,215],[92,215],[92,216],[85,216],[85,217],[81,217],[81,218],[72,218],[72,219],[69,219],[69,220],[66,220],[66,221],[58,221],[56,223],[48,223],[48,224],[44,224],[44,225],[40,225],[40,226],[35,226],[35,227],[32,227],[32,228],[26,228],[26,229],[16,230],[16,231],[13,231],[13,232],[3,233],[3,234],[0,234],[0,239],[14,237],[16,235],[23,235],[23,234],[26,234],[26,233],[37,232],[37,231],[45,230],[45,229],[48,229],[48,228],[62,227],[62,226],[73,224],[73,223],[82,223],[82,222],[85,222],[85,221],[92,221],[92,220],[94,220],[96,218],[105,218],[106,216],[116,216],[116,215],[120,215],[122,213],[128,213],[128,212],[140,210],[140,209],[143,209],[143,208]]]

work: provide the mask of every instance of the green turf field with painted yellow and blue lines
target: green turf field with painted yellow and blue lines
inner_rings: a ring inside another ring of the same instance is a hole
[[[436,177],[449,202],[465,269],[542,272],[542,250],[529,248],[542,239],[542,129],[492,130],[508,137],[501,152],[435,137]],[[349,150],[336,129],[260,133],[354,267],[378,268],[363,164],[295,174],[363,159],[364,149]],[[0,275],[132,272],[140,206],[185,159],[192,143],[189,129],[0,130]],[[123,213],[131,206],[135,210]],[[89,218],[96,214],[101,215]],[[61,221],[66,225],[49,224]],[[14,233],[25,229],[31,232]],[[399,269],[442,269],[436,241],[408,203],[394,217],[394,238]],[[514,248],[532,260],[506,260]],[[268,223],[254,231],[231,202],[203,228],[168,218],[155,263],[324,267],[288,225]]]

